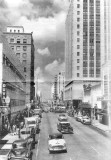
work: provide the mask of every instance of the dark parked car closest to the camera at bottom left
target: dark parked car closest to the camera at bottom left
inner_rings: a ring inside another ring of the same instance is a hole
[[[12,143],[12,149],[10,151],[10,160],[15,159],[24,159],[24,160],[32,160],[32,147],[31,147],[32,140],[29,139],[24,140],[16,140]]]

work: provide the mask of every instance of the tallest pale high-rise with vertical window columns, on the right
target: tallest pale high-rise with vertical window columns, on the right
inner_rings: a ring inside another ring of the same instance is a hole
[[[101,0],[71,0],[66,18],[65,99],[83,99],[83,85],[101,80]],[[77,104],[77,103],[76,103]]]

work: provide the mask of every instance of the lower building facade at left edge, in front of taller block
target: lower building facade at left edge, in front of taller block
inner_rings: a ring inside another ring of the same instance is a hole
[[[9,97],[9,107],[6,107]],[[0,128],[26,106],[26,81],[23,65],[11,50],[6,37],[0,36]]]

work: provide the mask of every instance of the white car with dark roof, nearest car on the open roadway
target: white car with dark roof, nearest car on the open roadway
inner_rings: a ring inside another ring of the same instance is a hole
[[[51,133],[48,137],[48,150],[49,153],[57,151],[67,152],[66,142],[62,133]]]

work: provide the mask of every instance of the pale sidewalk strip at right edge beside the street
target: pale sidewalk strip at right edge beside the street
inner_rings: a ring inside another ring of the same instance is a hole
[[[93,121],[92,126],[99,129],[105,133],[111,133],[109,126],[99,123],[97,120]]]

